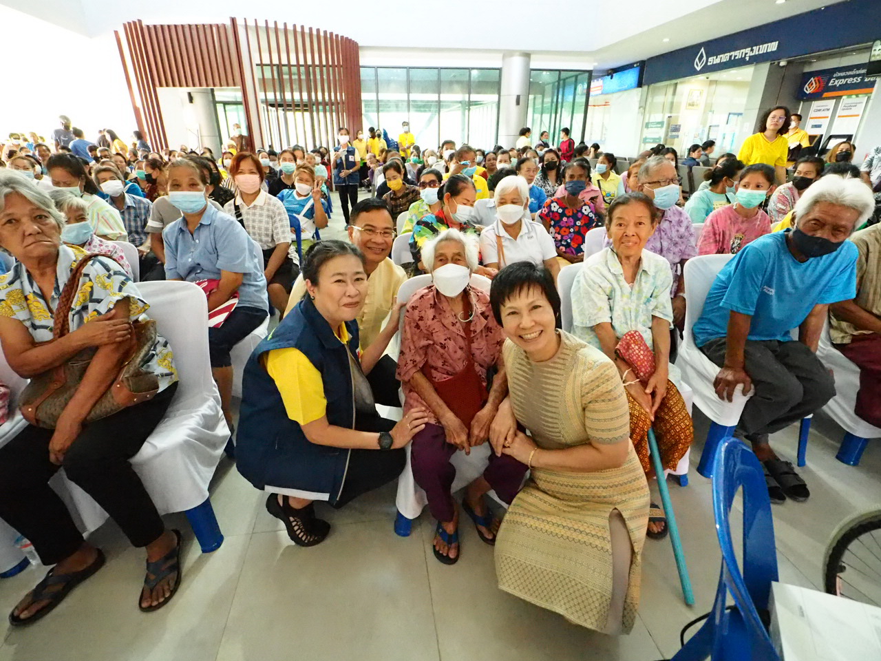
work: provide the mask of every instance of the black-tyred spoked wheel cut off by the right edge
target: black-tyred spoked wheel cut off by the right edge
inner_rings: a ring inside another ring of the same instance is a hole
[[[841,524],[823,564],[825,591],[881,606],[881,511]]]

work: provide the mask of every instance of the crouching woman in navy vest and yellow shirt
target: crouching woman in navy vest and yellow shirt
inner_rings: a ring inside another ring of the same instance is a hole
[[[313,502],[339,509],[396,479],[403,446],[425,427],[427,411],[414,409],[397,424],[376,412],[365,374],[386,347],[374,342],[358,353],[355,319],[367,291],[361,251],[319,241],[302,273],[307,295],[245,368],[236,461],[251,484],[270,492],[266,509],[292,541],[315,546],[330,525],[316,518]]]

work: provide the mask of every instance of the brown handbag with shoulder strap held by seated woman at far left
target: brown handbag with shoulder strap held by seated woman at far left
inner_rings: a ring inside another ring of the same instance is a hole
[[[55,326],[52,329],[53,339],[49,340],[50,342],[63,338],[70,332],[70,307],[85,266],[94,257],[100,255],[86,255],[70,273],[70,279],[64,285],[61,297],[58,299]],[[132,330],[129,349],[119,374],[93,405],[85,422],[107,418],[108,415],[120,412],[128,406],[151,399],[159,392],[157,376],[141,368],[144,359],[153,351],[153,345],[156,344],[156,322],[152,319],[135,322],[132,323]],[[35,427],[55,429],[58,418],[76,393],[97,351],[98,347],[87,347],[56,368],[34,376],[20,397],[19,409],[25,420]]]

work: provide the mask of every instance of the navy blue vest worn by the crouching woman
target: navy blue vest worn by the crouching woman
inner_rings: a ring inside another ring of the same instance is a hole
[[[358,356],[358,324],[346,322],[348,351]],[[280,486],[327,494],[331,504],[343,490],[349,449],[309,442],[287,417],[276,382],[261,358],[273,349],[299,349],[322,375],[329,424],[352,429],[355,422],[352,373],[346,345],[304,296],[251,354],[242,379],[235,456],[239,472],[258,489]]]

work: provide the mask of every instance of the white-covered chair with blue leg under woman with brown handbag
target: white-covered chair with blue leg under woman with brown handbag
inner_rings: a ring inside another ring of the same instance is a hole
[[[159,334],[174,351],[180,383],[165,417],[131,464],[159,514],[185,512],[203,553],[210,553],[223,543],[223,535],[211,508],[208,484],[229,430],[220,410],[217,386],[211,378],[208,334],[203,331],[208,323],[208,303],[203,291],[189,282],[144,282],[137,288],[150,303],[148,316],[156,320]],[[181,315],[181,310],[187,314]],[[0,375],[10,378],[11,369],[5,360],[0,362]],[[13,395],[20,392],[24,383],[20,378],[13,383]],[[4,430],[0,444],[14,435]],[[80,531],[88,534],[107,520],[107,513],[70,482],[63,471],[56,473],[50,484],[65,501]],[[0,543],[2,533],[0,529]],[[0,553],[0,558],[5,559],[6,555]]]

